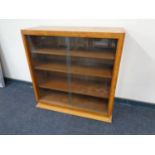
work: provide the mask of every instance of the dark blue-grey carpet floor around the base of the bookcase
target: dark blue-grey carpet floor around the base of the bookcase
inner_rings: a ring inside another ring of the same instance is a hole
[[[155,106],[115,101],[113,123],[35,108],[30,84],[0,88],[0,134],[155,134]]]

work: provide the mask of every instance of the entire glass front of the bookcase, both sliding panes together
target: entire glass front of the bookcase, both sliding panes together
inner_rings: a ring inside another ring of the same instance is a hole
[[[117,40],[27,37],[40,99],[104,113]]]

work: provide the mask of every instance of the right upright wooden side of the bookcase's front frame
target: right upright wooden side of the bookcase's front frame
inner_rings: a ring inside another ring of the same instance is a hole
[[[121,34],[119,35],[117,39],[117,49],[116,49],[115,62],[114,62],[113,73],[112,73],[112,82],[111,82],[110,95],[109,95],[109,102],[108,102],[108,115],[109,116],[112,116],[112,111],[113,111],[113,106],[114,106],[115,89],[116,89],[118,71],[119,71],[120,60],[121,60],[121,55],[122,55],[124,36],[125,34]]]

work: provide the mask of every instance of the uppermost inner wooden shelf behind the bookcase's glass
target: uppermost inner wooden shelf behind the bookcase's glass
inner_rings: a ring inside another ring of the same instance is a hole
[[[42,55],[56,55],[56,56],[66,56],[67,52],[65,49],[35,49],[32,51],[35,54]],[[86,51],[86,50],[72,50],[70,51],[71,57],[81,57],[81,58],[92,58],[92,59],[106,59],[106,60],[114,60],[114,52],[113,50],[105,49],[104,51]]]

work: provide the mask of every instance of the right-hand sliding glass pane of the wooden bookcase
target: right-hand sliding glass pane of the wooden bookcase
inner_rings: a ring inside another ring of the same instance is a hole
[[[117,40],[70,38],[71,103],[107,112]]]

